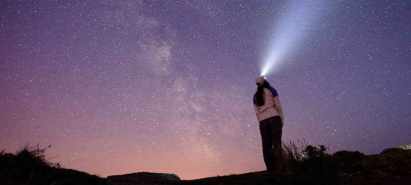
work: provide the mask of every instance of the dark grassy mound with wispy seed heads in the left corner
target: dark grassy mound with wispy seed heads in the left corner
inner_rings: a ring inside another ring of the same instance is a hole
[[[90,175],[77,170],[61,168],[59,163],[52,163],[44,152],[48,147],[30,146],[17,150],[15,154],[0,152],[1,184],[106,184],[98,175]]]

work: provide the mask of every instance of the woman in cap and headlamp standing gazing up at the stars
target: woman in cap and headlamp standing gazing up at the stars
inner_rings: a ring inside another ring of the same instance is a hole
[[[255,79],[257,92],[254,94],[254,108],[260,123],[261,140],[263,140],[263,157],[267,172],[275,171],[277,164],[273,156],[273,146],[281,146],[284,116],[279,103],[277,91],[270,86],[264,76]]]

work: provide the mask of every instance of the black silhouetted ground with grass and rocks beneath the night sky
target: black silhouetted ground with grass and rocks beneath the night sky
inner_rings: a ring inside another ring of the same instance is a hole
[[[283,144],[284,157],[279,160],[276,172],[217,175],[195,180],[148,172],[102,178],[61,168],[60,164],[46,160],[44,152],[48,147],[26,145],[15,154],[0,152],[0,184],[409,184],[411,181],[411,145],[366,156],[358,151],[331,155],[326,153],[324,145],[298,148],[292,144]]]

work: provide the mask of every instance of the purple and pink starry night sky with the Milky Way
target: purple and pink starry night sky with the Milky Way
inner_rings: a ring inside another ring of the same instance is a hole
[[[0,149],[102,176],[266,170],[269,67],[283,141],[411,144],[411,2],[1,1]],[[261,68],[261,66],[263,66]]]

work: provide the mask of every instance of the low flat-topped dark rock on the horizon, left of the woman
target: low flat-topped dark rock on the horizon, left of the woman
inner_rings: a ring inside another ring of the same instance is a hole
[[[180,181],[175,174],[138,172],[125,175],[112,175],[107,177],[109,184],[132,185],[132,184],[164,184],[171,181]]]

